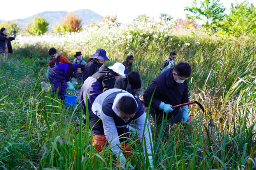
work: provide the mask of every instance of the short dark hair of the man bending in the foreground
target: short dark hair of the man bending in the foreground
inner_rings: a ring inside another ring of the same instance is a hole
[[[118,111],[125,114],[134,114],[137,111],[137,102],[133,97],[123,96],[119,99]]]

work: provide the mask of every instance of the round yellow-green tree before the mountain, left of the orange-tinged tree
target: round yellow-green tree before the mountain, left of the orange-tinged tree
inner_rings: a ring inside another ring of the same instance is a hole
[[[26,24],[26,27],[23,28],[30,35],[43,35],[48,31],[49,23],[46,21],[46,18],[43,16],[35,16],[32,22]]]

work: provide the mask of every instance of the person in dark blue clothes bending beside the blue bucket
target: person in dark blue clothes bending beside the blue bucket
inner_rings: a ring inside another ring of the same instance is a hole
[[[69,63],[54,66],[49,72],[49,80],[53,88],[53,94],[59,88],[58,96],[63,100],[64,92],[67,87],[68,90],[75,90],[70,79],[74,76],[74,73],[82,73],[83,69],[83,65],[77,66],[76,64]]]

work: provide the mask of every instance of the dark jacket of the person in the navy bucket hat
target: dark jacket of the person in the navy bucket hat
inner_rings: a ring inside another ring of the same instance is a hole
[[[96,73],[103,64],[100,64],[96,62],[95,60],[90,61],[88,64],[85,65],[83,75],[82,75],[82,81],[84,81],[89,77],[92,76],[94,73]]]

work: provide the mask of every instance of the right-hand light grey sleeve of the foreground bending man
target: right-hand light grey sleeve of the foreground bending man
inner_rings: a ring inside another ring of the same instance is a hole
[[[143,109],[144,111],[144,109]],[[146,120],[146,122],[145,122]],[[147,149],[147,153],[150,154],[149,155],[149,159],[152,159],[152,150],[151,150],[151,146],[153,147],[153,139],[152,139],[152,134],[151,134],[151,128],[150,128],[150,124],[148,119],[146,119],[146,113],[144,111],[144,113],[135,120],[136,123],[136,127],[138,129],[139,132],[139,139],[140,142],[142,142],[142,146],[145,152],[145,148],[144,148],[144,142],[146,142],[146,149]],[[146,127],[145,127],[145,131],[144,131],[144,124],[146,123]],[[143,133],[144,131],[144,133]],[[144,134],[144,139],[142,139],[142,135]],[[150,136],[150,138],[149,138]]]

